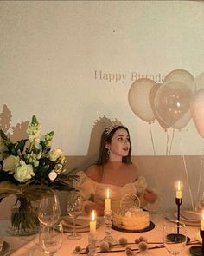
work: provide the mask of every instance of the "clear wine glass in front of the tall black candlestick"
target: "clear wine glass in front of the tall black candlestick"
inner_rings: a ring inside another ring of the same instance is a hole
[[[163,244],[171,255],[182,252],[187,243],[187,230],[182,221],[168,220],[163,225]]]

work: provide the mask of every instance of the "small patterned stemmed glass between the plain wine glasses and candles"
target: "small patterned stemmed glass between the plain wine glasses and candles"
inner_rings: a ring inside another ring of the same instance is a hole
[[[73,234],[69,235],[70,240],[79,240],[81,235],[76,233],[76,218],[82,213],[83,198],[77,192],[67,195],[67,213],[73,219]]]

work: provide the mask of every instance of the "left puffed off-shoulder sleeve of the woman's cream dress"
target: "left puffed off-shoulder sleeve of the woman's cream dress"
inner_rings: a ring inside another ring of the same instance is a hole
[[[79,179],[75,182],[74,187],[80,191],[85,200],[92,200],[97,183],[88,178],[83,171],[78,172],[77,175]]]

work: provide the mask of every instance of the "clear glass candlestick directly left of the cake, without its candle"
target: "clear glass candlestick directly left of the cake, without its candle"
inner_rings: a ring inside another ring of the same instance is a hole
[[[109,245],[117,244],[117,240],[114,240],[112,233],[112,211],[105,211],[105,237],[100,242],[107,242]]]

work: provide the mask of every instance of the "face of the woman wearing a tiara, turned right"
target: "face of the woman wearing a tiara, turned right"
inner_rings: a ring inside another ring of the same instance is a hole
[[[129,154],[130,138],[128,132],[124,128],[116,130],[112,136],[111,143],[106,144],[106,148],[111,150],[111,155],[116,157],[123,157]]]

